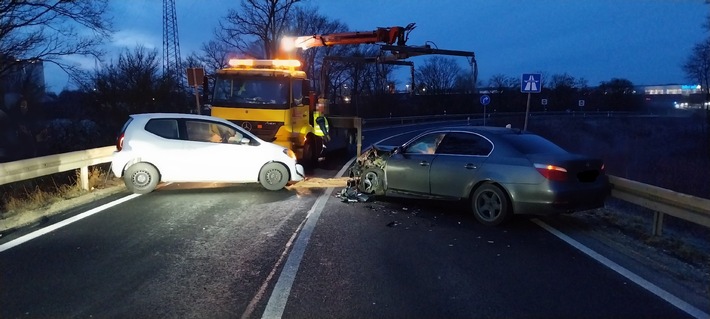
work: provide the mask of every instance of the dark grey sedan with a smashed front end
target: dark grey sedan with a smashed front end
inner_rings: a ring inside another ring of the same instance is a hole
[[[503,127],[439,128],[401,146],[373,145],[350,177],[365,194],[469,201],[489,226],[514,214],[599,208],[610,192],[601,159]]]

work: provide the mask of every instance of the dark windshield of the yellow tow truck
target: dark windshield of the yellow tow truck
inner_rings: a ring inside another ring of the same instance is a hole
[[[288,80],[220,74],[213,96],[213,107],[287,109]]]

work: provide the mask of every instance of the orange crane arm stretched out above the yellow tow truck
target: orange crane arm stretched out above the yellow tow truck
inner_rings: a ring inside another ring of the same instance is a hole
[[[343,45],[343,44],[374,44],[384,43],[404,46],[409,38],[409,32],[414,30],[414,23],[406,27],[377,28],[373,31],[341,32],[331,34],[304,35],[296,38],[287,37],[281,40],[282,48],[300,48],[307,50],[313,47]]]

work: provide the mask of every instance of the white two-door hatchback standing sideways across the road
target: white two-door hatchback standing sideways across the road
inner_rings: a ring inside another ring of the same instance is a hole
[[[220,118],[178,113],[131,115],[111,170],[139,194],[159,182],[258,182],[279,190],[304,179],[293,151]]]

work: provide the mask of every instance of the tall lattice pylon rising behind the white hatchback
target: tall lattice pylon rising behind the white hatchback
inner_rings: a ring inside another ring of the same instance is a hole
[[[178,90],[182,91],[182,66],[180,62],[175,0],[163,0],[163,73],[174,77]]]

